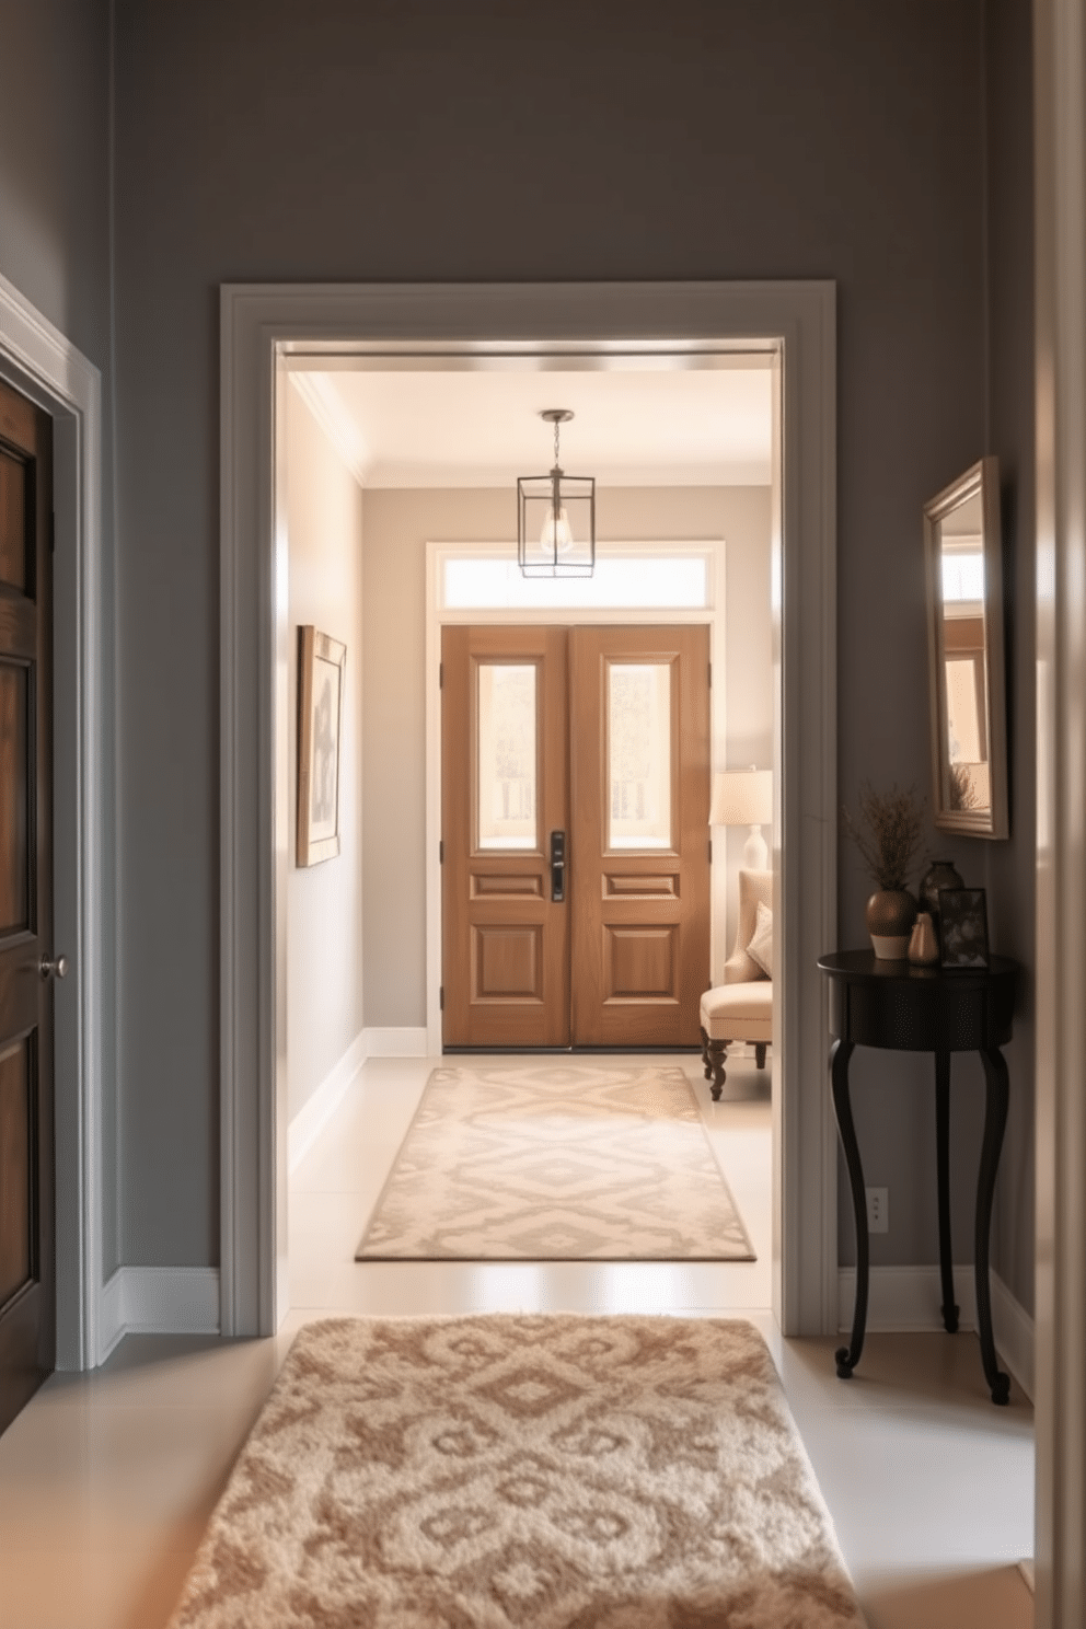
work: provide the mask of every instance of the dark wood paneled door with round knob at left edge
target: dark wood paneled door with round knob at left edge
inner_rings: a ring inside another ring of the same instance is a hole
[[[0,1430],[55,1360],[52,424],[0,384]]]

